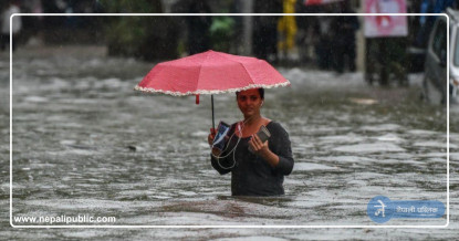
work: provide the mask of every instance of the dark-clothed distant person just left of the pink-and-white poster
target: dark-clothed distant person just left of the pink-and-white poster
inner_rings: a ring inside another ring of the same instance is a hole
[[[350,6],[348,1],[341,2],[342,13],[355,13]],[[355,15],[338,15],[333,17],[332,31],[334,32],[333,39],[333,67],[337,73],[343,73],[347,63],[351,72],[355,72],[356,64],[356,44],[355,32],[361,24]]]

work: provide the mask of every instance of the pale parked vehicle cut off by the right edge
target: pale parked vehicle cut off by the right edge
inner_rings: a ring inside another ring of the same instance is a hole
[[[459,86],[459,11],[447,9],[449,17],[449,59],[447,59],[447,21],[439,17],[430,33],[426,52],[423,96],[436,104],[446,104],[449,85],[450,103],[458,103]],[[449,80],[447,76],[449,64]]]

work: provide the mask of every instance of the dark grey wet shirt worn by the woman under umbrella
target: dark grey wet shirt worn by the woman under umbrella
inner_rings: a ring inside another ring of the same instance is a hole
[[[237,125],[231,126],[228,136],[234,133]],[[272,167],[260,156],[249,151],[251,137],[240,138],[233,135],[219,161],[211,156],[212,167],[221,175],[231,172],[232,196],[279,196],[284,195],[283,180],[293,169],[293,157],[289,134],[275,122],[267,125],[271,133],[269,148],[279,156],[279,164]],[[236,146],[236,149],[230,153]],[[236,160],[236,165],[233,166]],[[232,167],[233,166],[233,167]],[[232,168],[230,168],[232,167]],[[229,169],[228,169],[229,168]]]

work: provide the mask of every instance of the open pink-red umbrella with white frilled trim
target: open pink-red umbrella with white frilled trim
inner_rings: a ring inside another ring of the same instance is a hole
[[[156,64],[135,90],[174,96],[196,95],[197,104],[200,94],[210,94],[215,127],[213,94],[286,85],[290,82],[263,60],[209,50]]]

